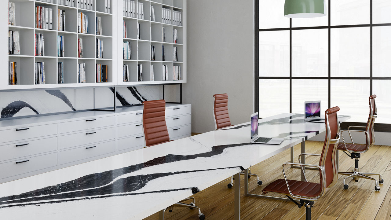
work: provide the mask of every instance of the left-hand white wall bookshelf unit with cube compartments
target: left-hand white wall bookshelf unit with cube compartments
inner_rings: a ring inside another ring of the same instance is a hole
[[[54,3],[38,0],[9,0],[15,3],[16,25],[8,25],[8,13],[1,13],[0,20],[2,30],[19,31],[20,55],[8,55],[8,59],[2,59],[3,65],[8,66],[8,61],[18,62],[18,85],[8,85],[8,71],[0,74],[0,90],[34,89],[34,88],[63,88],[63,87],[98,87],[117,85],[118,65],[118,36],[115,29],[118,15],[117,0],[111,1],[111,13],[105,13],[104,0],[93,0],[93,10],[81,9],[61,5],[60,0]],[[1,6],[8,11],[8,2],[1,1]],[[53,29],[35,28],[35,6],[43,6],[53,9]],[[65,10],[66,31],[57,31],[57,9]],[[89,33],[77,32],[77,14],[88,14]],[[97,35],[95,31],[96,17],[102,18],[103,35]],[[8,27],[5,27],[8,25]],[[34,34],[44,34],[45,56],[34,56]],[[65,56],[57,57],[57,36],[64,36]],[[8,42],[8,34],[4,31],[3,40]],[[77,39],[83,38],[83,58],[77,57]],[[96,39],[104,42],[104,59],[96,58]],[[7,51],[8,43],[0,45],[1,50]],[[4,56],[2,56],[5,58]],[[34,84],[34,62],[45,62],[46,84]],[[57,63],[64,63],[64,83],[57,83]],[[86,63],[86,83],[77,83],[77,63]],[[108,82],[96,82],[96,64],[108,65]]]

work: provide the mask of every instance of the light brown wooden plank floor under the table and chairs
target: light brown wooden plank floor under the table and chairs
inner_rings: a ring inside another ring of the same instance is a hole
[[[306,141],[306,153],[321,153],[323,142]],[[300,144],[294,147],[295,155],[300,153]],[[297,157],[295,156],[296,160]],[[256,184],[251,177],[249,190],[251,193],[262,193],[263,186],[276,179],[283,178],[281,165],[290,159],[290,151],[284,151],[251,168],[253,173],[260,175],[264,182],[262,186]],[[326,191],[325,196],[317,200],[312,208],[313,220],[390,220],[391,219],[391,146],[375,145],[368,152],[361,155],[359,168],[362,172],[380,173],[384,184],[380,184],[380,191],[375,191],[373,180],[360,179],[355,182],[346,179],[349,189],[343,189],[343,177],[339,175],[337,183]],[[318,164],[319,157],[306,157],[307,164]],[[354,160],[343,152],[339,152],[339,171],[351,171]],[[289,179],[300,179],[300,169],[288,168],[286,174]],[[307,179],[319,182],[319,171],[307,170]],[[242,177],[242,183],[244,183]],[[377,177],[375,176],[375,179]],[[206,215],[206,220],[233,220],[234,203],[233,188],[228,189],[226,179],[194,195],[196,204]],[[241,193],[243,195],[243,184]],[[272,195],[268,193],[268,195]],[[153,201],[151,201],[153,202]],[[174,211],[165,213],[166,220],[198,220],[196,210],[174,207]],[[264,198],[241,197],[242,220],[305,220],[305,207],[298,208],[292,202],[269,200]],[[144,220],[158,220],[155,213]]]

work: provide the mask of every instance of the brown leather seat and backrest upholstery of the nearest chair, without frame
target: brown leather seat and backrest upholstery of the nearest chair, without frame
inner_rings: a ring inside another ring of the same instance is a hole
[[[319,175],[321,180],[326,178],[326,187],[329,187],[335,180],[337,179],[337,168],[335,166],[335,150],[336,144],[330,144],[328,137],[328,128],[330,127],[330,139],[337,139],[338,132],[338,118],[337,112],[339,111],[339,107],[333,107],[326,110],[325,115],[326,118],[326,139],[323,144],[323,150],[321,153],[321,159],[319,161],[319,166],[323,166],[325,168],[325,177],[321,175],[321,171],[319,171]],[[328,118],[328,120],[327,120]],[[329,145],[329,146],[328,146]],[[321,195],[322,184],[315,182],[304,182],[299,180],[288,180],[289,187],[293,195],[302,196],[302,197],[317,197]],[[288,187],[286,185],[285,179],[278,179],[267,185],[263,190],[263,193],[274,192],[281,193],[284,195],[290,195],[288,191]]]

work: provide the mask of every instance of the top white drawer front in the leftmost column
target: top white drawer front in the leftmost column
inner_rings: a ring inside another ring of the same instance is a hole
[[[56,124],[21,127],[0,131],[0,142],[18,141],[34,137],[43,137],[57,134]]]

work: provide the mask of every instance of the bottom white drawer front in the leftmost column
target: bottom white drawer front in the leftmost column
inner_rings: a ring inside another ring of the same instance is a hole
[[[57,152],[0,164],[0,179],[57,166]]]

